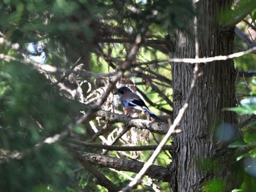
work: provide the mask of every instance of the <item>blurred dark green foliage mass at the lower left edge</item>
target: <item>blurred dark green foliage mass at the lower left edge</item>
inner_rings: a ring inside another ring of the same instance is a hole
[[[10,62],[0,68],[1,190],[64,190],[63,183],[72,185],[72,169],[78,168],[72,153],[60,142],[37,145],[67,128],[78,104],[59,96],[59,90],[29,66]]]

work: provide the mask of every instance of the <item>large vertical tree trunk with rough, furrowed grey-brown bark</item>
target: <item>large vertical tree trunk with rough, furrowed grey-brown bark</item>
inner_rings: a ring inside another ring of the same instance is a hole
[[[230,6],[229,0],[198,1],[197,8],[204,16],[198,18],[200,57],[228,55],[233,53],[233,28],[223,29],[218,19],[220,10]],[[193,23],[188,23],[191,26]],[[195,58],[195,42],[178,31],[173,57]],[[192,64],[172,64],[174,116],[187,98],[193,75]],[[180,134],[174,136],[172,175],[176,175],[171,185],[173,191],[206,191],[206,183],[215,180],[221,191],[231,191],[237,183],[231,175],[234,171],[230,163],[227,143],[215,137],[221,123],[235,125],[232,112],[222,111],[224,107],[235,106],[236,72],[232,60],[200,64],[203,76],[197,82],[189,109],[181,122]],[[220,131],[232,135],[235,129],[227,124]],[[222,135],[223,136],[223,135]],[[224,138],[226,139],[226,138]],[[235,160],[234,160],[235,161]]]

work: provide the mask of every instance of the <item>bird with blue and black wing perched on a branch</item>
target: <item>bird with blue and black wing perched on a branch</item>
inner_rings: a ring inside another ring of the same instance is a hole
[[[133,93],[129,88],[127,87],[121,87],[118,88],[115,95],[119,96],[119,99],[121,101],[121,104],[124,106],[124,108],[132,108],[135,110],[140,110],[146,112],[151,118],[154,118],[155,120],[159,120],[157,115],[154,115],[153,112],[148,110],[148,107],[146,106],[145,102],[138,96],[136,93]]]

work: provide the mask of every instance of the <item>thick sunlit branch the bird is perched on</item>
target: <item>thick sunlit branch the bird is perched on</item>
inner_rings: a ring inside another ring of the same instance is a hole
[[[157,134],[166,134],[169,125],[165,122],[154,122],[150,120],[131,118],[127,115],[120,115],[113,112],[99,110],[96,116],[101,117],[102,120],[111,123],[125,123],[127,127],[136,127],[140,129],[148,129]]]

